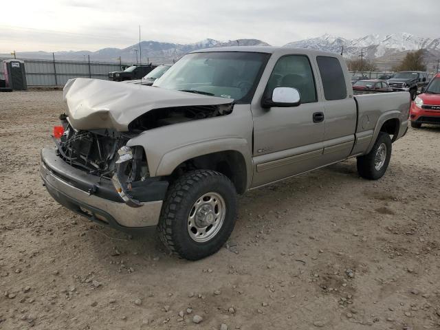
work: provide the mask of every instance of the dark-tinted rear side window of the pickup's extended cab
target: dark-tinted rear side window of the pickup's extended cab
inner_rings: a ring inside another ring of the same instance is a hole
[[[326,100],[342,100],[347,98],[344,72],[338,58],[331,56],[318,56],[319,72]]]

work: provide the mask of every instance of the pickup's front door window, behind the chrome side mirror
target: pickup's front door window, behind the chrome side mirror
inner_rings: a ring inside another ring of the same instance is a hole
[[[304,55],[287,55],[278,59],[267,82],[266,93],[272,95],[275,87],[298,89],[301,103],[316,102],[314,74],[309,58]]]

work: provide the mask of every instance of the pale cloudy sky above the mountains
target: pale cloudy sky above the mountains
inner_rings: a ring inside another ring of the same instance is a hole
[[[21,0],[3,5],[0,53],[124,48],[139,41],[260,39],[409,32],[440,37],[440,0]],[[8,12],[8,14],[6,14]]]

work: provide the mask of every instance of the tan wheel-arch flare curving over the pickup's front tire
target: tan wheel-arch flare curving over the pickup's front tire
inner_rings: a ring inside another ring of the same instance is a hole
[[[155,176],[166,176],[173,173],[173,170],[188,159],[218,153],[221,151],[237,151],[245,160],[246,164],[246,188],[252,182],[252,155],[247,140],[241,137],[222,137],[214,140],[206,140],[180,146],[168,151],[160,159]]]

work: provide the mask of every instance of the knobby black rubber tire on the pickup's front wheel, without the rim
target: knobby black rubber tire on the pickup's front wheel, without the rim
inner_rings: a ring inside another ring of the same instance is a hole
[[[190,236],[188,217],[193,210],[196,212],[194,204],[210,192],[223,199],[225,216],[217,233],[209,241],[198,242],[195,241],[197,237],[193,239]],[[199,260],[210,256],[221,249],[234,229],[236,203],[234,184],[225,175],[214,170],[192,170],[185,173],[168,190],[157,226],[160,239],[171,252],[181,258]]]

